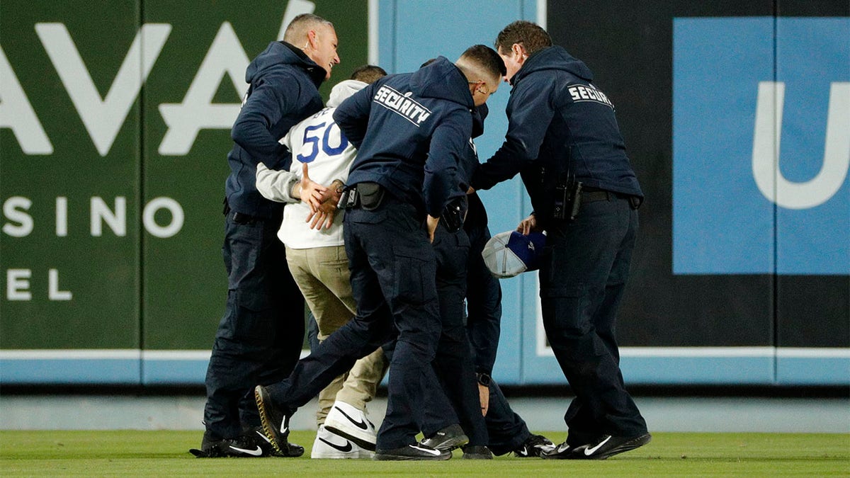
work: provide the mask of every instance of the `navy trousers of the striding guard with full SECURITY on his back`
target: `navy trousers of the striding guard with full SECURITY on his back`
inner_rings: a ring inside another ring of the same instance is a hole
[[[431,361],[439,340],[436,262],[416,208],[385,194],[374,211],[346,211],[345,249],[357,315],[298,361],[289,378],[269,386],[275,405],[292,414],[331,380],[392,339],[387,413],[378,449],[416,443],[457,416],[439,387]]]

